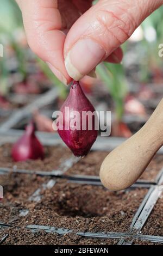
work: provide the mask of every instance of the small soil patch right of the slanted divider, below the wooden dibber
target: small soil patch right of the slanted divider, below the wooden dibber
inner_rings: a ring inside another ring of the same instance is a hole
[[[163,236],[163,198],[155,204],[141,233]]]

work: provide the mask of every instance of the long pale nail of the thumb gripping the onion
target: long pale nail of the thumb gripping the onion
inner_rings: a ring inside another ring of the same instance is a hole
[[[104,56],[105,51],[97,42],[89,38],[80,39],[66,56],[67,72],[78,81],[89,74]]]

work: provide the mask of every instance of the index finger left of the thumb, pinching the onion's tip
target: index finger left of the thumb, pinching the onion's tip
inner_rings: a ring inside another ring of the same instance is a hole
[[[63,83],[72,78],[64,64],[64,42],[66,35],[61,31],[62,21],[57,0],[17,0],[22,10],[24,28],[30,48],[54,72]]]

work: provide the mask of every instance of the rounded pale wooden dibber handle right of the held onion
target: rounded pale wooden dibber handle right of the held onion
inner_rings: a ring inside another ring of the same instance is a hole
[[[100,178],[109,190],[131,186],[163,145],[163,99],[147,123],[104,159]]]

